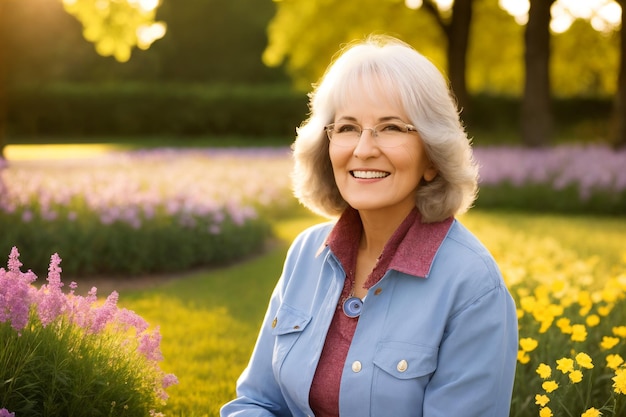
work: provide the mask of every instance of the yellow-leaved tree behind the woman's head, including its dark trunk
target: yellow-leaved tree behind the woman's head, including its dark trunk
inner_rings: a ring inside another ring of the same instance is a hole
[[[447,8],[436,0],[363,0],[357,11],[354,3],[345,1],[280,1],[269,25],[270,42],[264,61],[270,66],[278,66],[287,60],[288,71],[298,77],[298,73],[304,72],[303,67],[315,56],[308,54],[309,51],[323,48],[330,56],[337,45],[369,32],[395,34],[406,41],[413,41],[413,45],[421,45],[421,52],[443,43],[446,45],[445,61],[451,87],[459,106],[467,111],[466,69],[473,2],[456,0]],[[423,9],[426,13],[412,13],[411,9]],[[432,21],[429,22],[424,15],[434,20],[439,33],[433,31]],[[312,31],[311,28],[316,29]],[[430,57],[439,54],[439,51],[427,53]],[[316,73],[319,75],[321,71]]]

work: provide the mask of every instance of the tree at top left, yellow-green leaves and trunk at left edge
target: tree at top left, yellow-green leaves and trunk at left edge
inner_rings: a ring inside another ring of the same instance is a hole
[[[8,65],[12,51],[8,45],[10,10],[21,1],[0,0],[0,158],[6,145]],[[148,49],[165,34],[165,24],[156,22],[159,0],[62,0],[65,10],[83,26],[83,36],[102,56],[119,62],[130,59],[134,47]],[[41,6],[41,5],[40,5]],[[33,7],[37,7],[36,4]]]

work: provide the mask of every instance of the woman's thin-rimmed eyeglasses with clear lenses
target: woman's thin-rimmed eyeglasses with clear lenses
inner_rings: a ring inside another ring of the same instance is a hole
[[[325,128],[328,139],[337,146],[354,147],[359,143],[364,130],[370,130],[376,144],[381,148],[394,148],[405,142],[406,134],[417,132],[415,126],[394,121],[379,123],[374,127],[362,127],[356,123],[331,123]]]

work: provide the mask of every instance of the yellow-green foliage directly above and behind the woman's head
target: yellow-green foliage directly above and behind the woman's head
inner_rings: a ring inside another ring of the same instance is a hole
[[[294,84],[308,91],[340,46],[372,32],[398,36],[444,67],[445,48],[441,45],[445,38],[434,20],[400,0],[277,2],[263,62],[269,66],[285,63]]]

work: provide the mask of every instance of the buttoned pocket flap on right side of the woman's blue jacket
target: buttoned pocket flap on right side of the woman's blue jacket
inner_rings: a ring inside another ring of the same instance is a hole
[[[374,364],[398,379],[418,378],[437,369],[439,349],[404,342],[384,342],[378,346]]]

